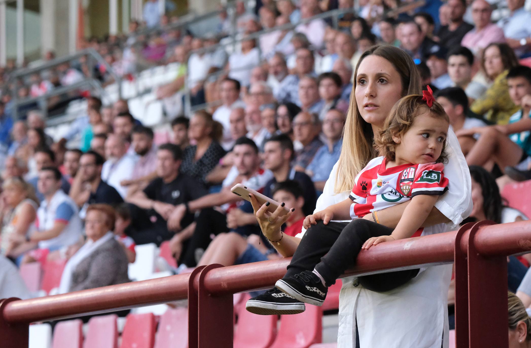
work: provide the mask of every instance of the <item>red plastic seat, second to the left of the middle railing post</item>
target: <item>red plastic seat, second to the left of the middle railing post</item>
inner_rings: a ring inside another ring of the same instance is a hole
[[[157,322],[153,313],[129,314],[122,332],[121,348],[153,348]]]

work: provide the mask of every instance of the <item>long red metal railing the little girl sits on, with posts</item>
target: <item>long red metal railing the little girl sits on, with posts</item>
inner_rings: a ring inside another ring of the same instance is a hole
[[[531,221],[493,225],[483,221],[459,231],[381,243],[362,251],[347,275],[456,264],[458,348],[508,347],[507,256],[531,250]],[[289,258],[221,267],[190,274],[105,286],[44,298],[0,301],[2,347],[28,346],[28,325],[118,309],[189,300],[189,347],[232,347],[233,298],[270,288]],[[488,304],[488,305],[485,305]]]

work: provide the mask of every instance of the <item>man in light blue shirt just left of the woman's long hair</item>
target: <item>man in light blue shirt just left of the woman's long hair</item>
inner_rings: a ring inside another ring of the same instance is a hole
[[[312,178],[315,189],[321,193],[324,184],[330,176],[332,167],[339,160],[343,140],[341,134],[345,125],[345,113],[341,110],[330,109],[323,120],[323,134],[327,144],[315,153],[313,160],[306,167],[306,174]]]

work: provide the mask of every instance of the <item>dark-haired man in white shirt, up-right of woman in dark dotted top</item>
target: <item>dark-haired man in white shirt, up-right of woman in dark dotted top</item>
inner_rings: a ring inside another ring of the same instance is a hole
[[[223,126],[223,139],[221,144],[225,149],[230,147],[232,137],[230,136],[230,111],[233,108],[244,107],[244,103],[239,100],[240,83],[238,80],[225,79],[220,84],[220,96],[223,103],[214,111],[212,118]]]

